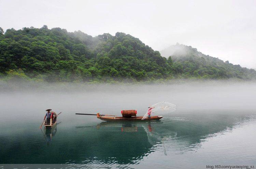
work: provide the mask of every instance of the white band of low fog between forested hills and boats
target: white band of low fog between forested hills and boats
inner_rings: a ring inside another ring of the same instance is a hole
[[[83,89],[72,86],[62,88],[58,91],[1,92],[1,114],[43,118],[46,109],[66,115],[98,112],[121,115],[121,110],[135,109],[137,115],[144,115],[147,107],[160,101],[177,105],[176,113],[197,110],[205,110],[205,113],[207,110],[255,111],[256,85],[253,82],[211,81],[138,86],[100,84]]]

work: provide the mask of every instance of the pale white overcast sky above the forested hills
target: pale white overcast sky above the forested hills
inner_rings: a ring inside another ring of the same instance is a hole
[[[255,0],[0,0],[4,31],[33,26],[116,32],[155,51],[177,42],[205,55],[256,68]]]

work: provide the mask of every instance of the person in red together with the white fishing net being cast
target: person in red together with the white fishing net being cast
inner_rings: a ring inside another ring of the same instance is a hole
[[[142,120],[147,118],[148,115],[152,116],[152,115],[157,115],[157,114],[167,114],[167,113],[175,112],[176,109],[177,109],[176,105],[169,103],[169,102],[161,101],[157,104],[150,106],[147,109],[147,112],[143,116]]]

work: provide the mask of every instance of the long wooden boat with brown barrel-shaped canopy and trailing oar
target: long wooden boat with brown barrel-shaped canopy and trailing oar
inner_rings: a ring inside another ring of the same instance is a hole
[[[75,113],[80,115],[96,115],[97,118],[104,120],[104,121],[139,121],[142,120],[143,116],[136,116],[137,111],[136,110],[122,110],[122,117],[116,117],[116,115],[103,115],[103,114],[83,114],[83,113]],[[114,116],[114,117],[105,117],[105,116]],[[144,118],[143,120],[149,121],[149,120],[159,120],[163,116],[151,116],[151,118]]]

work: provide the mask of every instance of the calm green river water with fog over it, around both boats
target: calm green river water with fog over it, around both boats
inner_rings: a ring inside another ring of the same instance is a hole
[[[253,83],[3,92],[0,168],[256,168],[255,94]],[[177,111],[151,122],[75,115],[143,116],[160,101]],[[62,112],[53,129],[39,129],[46,109]]]

